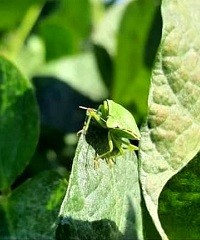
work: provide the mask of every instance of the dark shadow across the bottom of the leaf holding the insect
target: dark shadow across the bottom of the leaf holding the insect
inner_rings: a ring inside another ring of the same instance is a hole
[[[72,217],[60,217],[56,229],[57,240],[138,240],[134,206],[128,201],[129,210],[126,214],[124,234],[119,231],[116,223],[109,219],[83,221]]]

